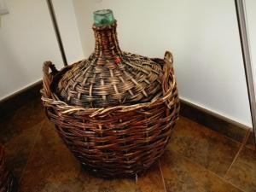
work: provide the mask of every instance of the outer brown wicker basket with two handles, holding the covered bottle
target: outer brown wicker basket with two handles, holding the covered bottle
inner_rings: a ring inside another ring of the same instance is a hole
[[[129,54],[127,54],[129,56]],[[160,94],[151,102],[111,108],[83,108],[62,102],[50,86],[50,62],[44,63],[42,100],[49,119],[75,157],[105,177],[129,176],[147,169],[166,148],[177,120],[179,102],[172,55],[164,60]],[[87,62],[87,61],[83,61]],[[73,71],[79,63],[61,71]]]

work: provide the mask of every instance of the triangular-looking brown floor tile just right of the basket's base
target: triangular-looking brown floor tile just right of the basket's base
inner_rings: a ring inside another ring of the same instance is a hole
[[[167,150],[160,165],[168,192],[235,192],[241,191],[181,154]]]

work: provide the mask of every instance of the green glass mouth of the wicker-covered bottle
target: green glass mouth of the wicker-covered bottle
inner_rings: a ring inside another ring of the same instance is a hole
[[[110,25],[115,22],[111,9],[96,10],[93,12],[93,20],[96,26]]]

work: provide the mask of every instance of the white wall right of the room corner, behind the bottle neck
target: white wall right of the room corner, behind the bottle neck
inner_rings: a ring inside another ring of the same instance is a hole
[[[92,12],[113,9],[121,49],[159,57],[171,49],[183,99],[251,126],[233,0],[73,0],[73,4],[85,56],[94,49]]]

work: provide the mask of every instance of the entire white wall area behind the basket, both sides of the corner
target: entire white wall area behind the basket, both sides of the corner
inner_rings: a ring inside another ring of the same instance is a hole
[[[44,61],[51,60],[62,67],[45,1],[6,3],[9,15],[0,17],[0,100],[41,79]],[[122,49],[159,57],[171,49],[183,99],[251,125],[233,0],[53,0],[53,3],[68,62],[87,57],[94,49],[92,12],[113,9]],[[255,9],[256,2],[247,0],[254,62]]]

